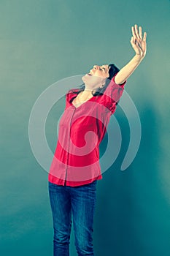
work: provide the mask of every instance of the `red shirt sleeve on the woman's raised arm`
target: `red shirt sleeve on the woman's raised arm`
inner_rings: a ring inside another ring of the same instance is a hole
[[[125,80],[122,84],[115,83],[115,76],[110,80],[109,85],[107,86],[107,89],[104,91],[105,100],[107,108],[113,113],[115,113],[116,105],[120,100],[120,97],[123,94],[124,86],[127,80]]]

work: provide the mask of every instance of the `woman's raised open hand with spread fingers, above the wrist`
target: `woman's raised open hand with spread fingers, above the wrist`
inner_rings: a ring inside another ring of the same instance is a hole
[[[136,55],[140,56],[141,59],[144,59],[144,56],[147,52],[147,33],[144,32],[144,37],[142,37],[142,27],[139,26],[132,26],[131,31],[133,34],[133,37],[131,37],[131,46],[134,48],[134,51]]]

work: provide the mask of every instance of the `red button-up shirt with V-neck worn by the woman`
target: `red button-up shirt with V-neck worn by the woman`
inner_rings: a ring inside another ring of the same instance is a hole
[[[88,99],[77,108],[72,104],[77,94],[72,90],[66,94],[66,107],[59,122],[48,181],[76,187],[102,178],[99,144],[107,131],[110,116],[115,113],[125,83],[117,85],[114,76],[104,94]]]

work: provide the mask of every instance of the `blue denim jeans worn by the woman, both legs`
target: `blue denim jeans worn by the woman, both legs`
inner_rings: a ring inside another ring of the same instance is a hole
[[[53,214],[53,255],[69,256],[69,240],[74,225],[77,255],[93,256],[93,216],[96,206],[96,184],[78,187],[50,183],[50,206]]]

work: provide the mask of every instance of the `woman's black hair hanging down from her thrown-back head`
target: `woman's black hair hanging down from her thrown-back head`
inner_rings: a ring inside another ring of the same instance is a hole
[[[107,86],[109,86],[110,80],[114,77],[115,74],[117,74],[117,72],[120,71],[120,69],[118,69],[118,67],[116,67],[115,64],[109,64],[108,67],[109,67],[109,77],[106,79],[104,87],[103,88],[98,87],[97,89],[95,89],[95,91],[92,91],[93,96],[102,95],[106,90]],[[80,91],[84,91],[84,89],[85,89],[85,83],[82,83],[78,91],[74,91],[74,89],[70,91],[73,94],[79,94]]]

